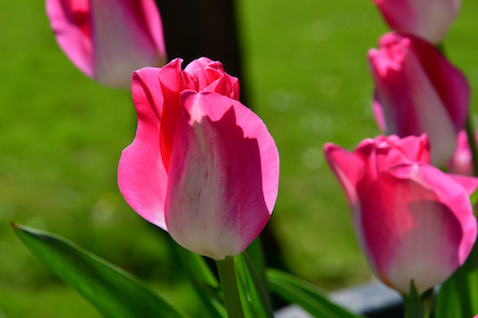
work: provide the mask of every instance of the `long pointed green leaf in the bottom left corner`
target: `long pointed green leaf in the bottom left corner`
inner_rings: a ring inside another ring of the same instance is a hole
[[[59,236],[12,224],[25,245],[103,317],[187,317],[133,276]]]

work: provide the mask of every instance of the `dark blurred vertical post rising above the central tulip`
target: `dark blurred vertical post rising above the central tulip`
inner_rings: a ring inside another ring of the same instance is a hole
[[[163,20],[168,59],[186,63],[200,56],[221,61],[239,78],[241,102],[248,105],[234,0],[155,0]]]

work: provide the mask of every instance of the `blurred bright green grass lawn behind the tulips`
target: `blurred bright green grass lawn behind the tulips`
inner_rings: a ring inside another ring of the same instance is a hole
[[[0,318],[99,317],[22,245],[12,220],[75,241],[197,315],[167,234],[117,190],[117,161],[136,126],[129,93],[91,81],[70,63],[43,5],[0,4]],[[387,28],[369,0],[238,5],[251,105],[281,157],[268,227],[286,266],[327,290],[366,281],[370,272],[322,148],[332,141],[352,149],[379,133],[365,54]],[[470,80],[474,111],[477,12],[478,3],[464,1],[445,41]]]

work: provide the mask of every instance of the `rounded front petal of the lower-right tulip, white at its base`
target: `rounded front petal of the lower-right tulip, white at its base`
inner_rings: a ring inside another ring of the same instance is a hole
[[[476,219],[465,190],[428,165],[382,171],[363,200],[362,225],[376,274],[390,287],[418,292],[445,280],[466,259]]]

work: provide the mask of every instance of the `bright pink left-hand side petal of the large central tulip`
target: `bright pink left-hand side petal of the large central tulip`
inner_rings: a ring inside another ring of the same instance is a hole
[[[133,143],[120,160],[118,186],[129,206],[150,222],[166,229],[164,202],[167,173],[160,145],[163,96],[158,87],[158,68],[146,67],[133,74],[131,93],[138,114]],[[167,154],[168,155],[168,154]]]

